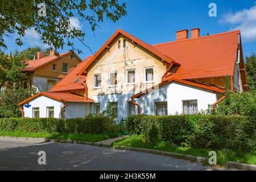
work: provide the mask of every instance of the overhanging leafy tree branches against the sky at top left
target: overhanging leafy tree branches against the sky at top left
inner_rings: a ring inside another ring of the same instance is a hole
[[[42,16],[44,11],[38,7],[42,2],[46,5],[46,16]],[[104,18],[116,22],[126,15],[125,9],[126,4],[119,5],[118,0],[1,0],[0,47],[7,48],[3,36],[15,32],[20,36],[16,44],[22,45],[22,37],[31,28],[35,28],[44,44],[55,49],[63,48],[65,41],[75,49],[72,39],[78,39],[86,46],[84,32],[71,24],[71,18],[88,23],[94,31],[97,22],[102,22]]]

